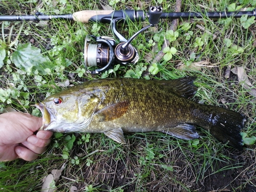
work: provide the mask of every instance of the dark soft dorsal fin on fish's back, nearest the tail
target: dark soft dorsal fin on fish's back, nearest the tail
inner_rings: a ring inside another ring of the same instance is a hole
[[[189,98],[193,97],[197,92],[197,87],[194,85],[196,78],[188,76],[173,80],[159,80],[157,83],[179,96]]]

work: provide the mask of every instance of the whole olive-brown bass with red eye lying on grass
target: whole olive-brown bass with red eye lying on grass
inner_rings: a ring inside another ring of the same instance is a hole
[[[199,138],[200,126],[219,142],[243,150],[246,116],[190,98],[196,77],[173,80],[106,78],[88,80],[55,93],[35,106],[42,113],[40,130],[104,133],[126,143],[127,132],[163,132],[185,140]]]

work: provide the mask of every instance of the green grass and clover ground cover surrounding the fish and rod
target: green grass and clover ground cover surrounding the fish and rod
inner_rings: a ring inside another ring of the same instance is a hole
[[[145,10],[159,2],[143,2],[139,4],[140,9]],[[52,1],[43,0],[38,4],[30,0],[19,1],[19,4],[17,1],[2,1],[0,12],[32,14],[34,10],[39,10],[45,14],[73,13],[101,9],[100,3],[111,4],[116,10],[125,9],[126,6],[138,8],[138,3],[133,0],[125,3],[115,3],[113,0],[67,0],[57,2],[56,5]],[[207,11],[223,11],[231,3],[233,1],[186,0],[182,1],[182,11],[201,11],[202,7]],[[243,8],[256,6],[253,1],[237,1],[236,7],[240,5]],[[162,6],[164,11],[173,11],[175,1],[163,1]],[[170,44],[170,47],[177,49],[177,53],[172,59],[157,63],[155,70],[158,73],[152,72],[146,78],[197,76],[195,84],[198,92],[193,99],[245,114],[248,123],[243,132],[255,136],[255,97],[242,86],[236,74],[231,72],[229,77],[225,76],[229,68],[242,66],[255,89],[255,24],[244,29],[240,19],[203,18],[188,24],[186,22],[180,20],[178,38]],[[120,24],[118,31],[129,38],[147,24]],[[102,75],[91,75],[83,70],[84,38],[87,34],[113,37],[109,25],[61,20],[51,20],[47,24],[2,23],[0,45],[5,47],[6,58],[0,68],[0,110],[4,112],[12,108],[40,116],[40,112],[30,105],[65,89],[65,82],[76,84],[102,77],[143,78],[144,70],[156,55],[149,40],[161,47],[163,42],[156,41],[156,35],[161,32],[164,34],[169,25],[169,20],[161,19],[157,28],[145,31],[134,39],[132,43],[139,47],[141,56],[137,65],[121,67]],[[12,43],[15,38],[17,41]],[[228,45],[227,39],[231,45]],[[11,55],[18,45],[29,42],[40,49],[42,57],[48,57],[54,66],[47,74],[42,75],[36,69],[20,70],[14,65]],[[199,66],[201,61],[204,63]],[[48,151],[37,160],[0,163],[0,190],[40,191],[43,178],[64,163],[66,167],[62,177],[55,183],[57,191],[69,191],[71,186],[76,186],[78,191],[120,192],[255,190],[255,144],[248,146],[244,152],[237,152],[218,143],[208,132],[200,128],[199,132],[201,137],[193,141],[155,132],[126,134],[127,145],[120,145],[103,134],[90,134],[87,139],[82,134],[55,134]],[[75,141],[69,139],[72,136]]]

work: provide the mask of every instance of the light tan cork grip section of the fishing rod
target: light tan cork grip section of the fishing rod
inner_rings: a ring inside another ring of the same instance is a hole
[[[112,10],[84,10],[73,13],[73,19],[76,22],[88,23],[90,18],[96,15],[108,15]]]

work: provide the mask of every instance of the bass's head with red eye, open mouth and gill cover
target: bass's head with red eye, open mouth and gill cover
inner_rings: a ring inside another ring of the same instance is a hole
[[[39,130],[83,132],[92,121],[99,101],[92,93],[66,93],[65,90],[49,96],[34,105],[42,113]]]

